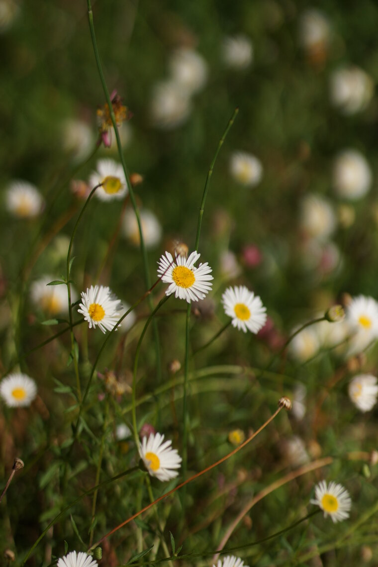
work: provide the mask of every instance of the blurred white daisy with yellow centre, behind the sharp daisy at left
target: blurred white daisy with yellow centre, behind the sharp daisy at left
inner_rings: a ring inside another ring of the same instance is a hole
[[[47,285],[56,280],[53,276],[44,276],[32,283],[30,295],[36,307],[49,315],[58,315],[68,311],[67,286]],[[71,287],[71,302],[75,303],[76,294]]]

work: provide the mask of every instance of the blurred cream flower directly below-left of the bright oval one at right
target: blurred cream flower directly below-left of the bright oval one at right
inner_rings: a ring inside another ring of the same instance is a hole
[[[310,193],[301,201],[300,227],[310,238],[326,240],[335,230],[336,219],[332,206],[324,197]]]

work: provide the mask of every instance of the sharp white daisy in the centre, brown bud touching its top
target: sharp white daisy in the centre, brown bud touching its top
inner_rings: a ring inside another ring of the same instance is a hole
[[[173,260],[169,252],[165,252],[158,264],[158,276],[162,281],[169,285],[165,291],[165,295],[175,294],[175,297],[185,299],[188,303],[190,301],[198,301],[204,299],[206,294],[209,293],[213,284],[213,276],[210,273],[213,271],[209,264],[199,264],[198,268],[194,266],[197,262],[199,254],[197,251],[192,252],[187,258],[184,256],[177,256]]]

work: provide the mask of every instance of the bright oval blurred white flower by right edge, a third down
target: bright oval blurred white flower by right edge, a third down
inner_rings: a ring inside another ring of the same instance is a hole
[[[339,197],[354,200],[371,189],[372,172],[366,158],[357,150],[343,150],[334,161],[333,188]]]

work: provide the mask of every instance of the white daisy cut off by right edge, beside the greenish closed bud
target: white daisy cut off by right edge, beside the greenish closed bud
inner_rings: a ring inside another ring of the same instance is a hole
[[[356,333],[356,345],[361,350],[378,337],[378,303],[372,297],[354,297],[346,308],[346,320]]]

